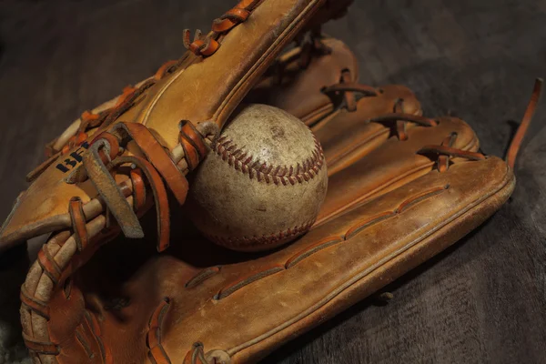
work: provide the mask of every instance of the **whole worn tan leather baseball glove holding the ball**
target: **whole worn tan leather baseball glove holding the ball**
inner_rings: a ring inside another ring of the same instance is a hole
[[[8,248],[53,233],[21,289],[36,363],[257,361],[447,248],[510,196],[511,167],[481,154],[462,120],[421,116],[406,87],[357,83],[349,49],[317,33],[342,6],[322,3],[242,1],[207,36],[186,35],[187,55],[47,147],[52,157],[0,234]],[[168,209],[164,181],[184,204],[184,176],[217,150],[243,101],[298,116],[328,165],[316,222],[274,252],[211,244],[186,223],[191,211]],[[157,250],[173,243],[162,254],[126,239],[153,231],[153,206]],[[106,244],[119,232],[126,238]]]

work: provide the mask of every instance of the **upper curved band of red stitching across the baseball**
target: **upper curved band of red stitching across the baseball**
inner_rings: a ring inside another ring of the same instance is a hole
[[[212,150],[241,173],[247,174],[250,179],[256,178],[258,182],[274,183],[275,185],[294,186],[297,183],[308,181],[319,174],[324,165],[324,154],[319,141],[313,135],[315,149],[311,157],[294,166],[268,165],[258,158],[245,151],[242,147],[229,139],[227,136],[220,136],[212,146]]]

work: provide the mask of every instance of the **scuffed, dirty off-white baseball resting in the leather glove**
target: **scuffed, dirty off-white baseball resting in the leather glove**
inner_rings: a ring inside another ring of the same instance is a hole
[[[273,106],[241,107],[192,173],[187,207],[195,226],[226,248],[276,248],[306,233],[328,177],[308,126]]]

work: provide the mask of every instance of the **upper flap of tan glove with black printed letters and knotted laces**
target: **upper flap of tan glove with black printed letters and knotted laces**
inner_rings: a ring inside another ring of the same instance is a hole
[[[131,158],[131,163],[150,174],[146,179],[163,179],[177,202],[183,204],[187,195],[185,175],[205,157],[207,143],[218,135],[227,117],[278,53],[300,37],[306,26],[316,27],[314,22],[328,19],[330,10],[330,15],[338,16],[342,5],[349,5],[346,0],[332,3],[242,0],[217,18],[207,35],[197,32],[192,37],[185,32],[188,51],[182,58],[167,62],[156,75],[136,86],[126,87],[116,100],[84,113],[47,148],[52,157],[29,176],[34,183],[15,202],[0,231],[0,247],[85,225],[106,215],[116,220],[126,237],[142,237],[131,205],[144,211],[143,194],[133,190],[130,177],[109,177],[112,169],[120,168],[116,163],[126,164],[126,157]],[[114,166],[109,160],[116,158]],[[155,205],[161,210],[159,245],[166,248],[169,228],[165,188],[163,183],[151,183],[157,192]],[[127,198],[136,201],[128,202]],[[70,214],[74,209],[76,215]],[[78,214],[82,217],[76,217]],[[93,237],[84,238],[82,244],[87,238]]]

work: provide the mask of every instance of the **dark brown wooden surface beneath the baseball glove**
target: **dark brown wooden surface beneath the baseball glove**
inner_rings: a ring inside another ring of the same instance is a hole
[[[228,3],[228,4],[227,4]],[[0,219],[43,146],[83,110],[183,52],[225,0],[0,3]],[[356,0],[326,26],[360,61],[360,81],[401,83],[428,116],[460,116],[503,155],[546,76],[545,0]],[[470,237],[266,361],[546,362],[546,100],[521,150],[511,201]],[[18,324],[24,251],[0,259],[0,363],[25,360]]]

